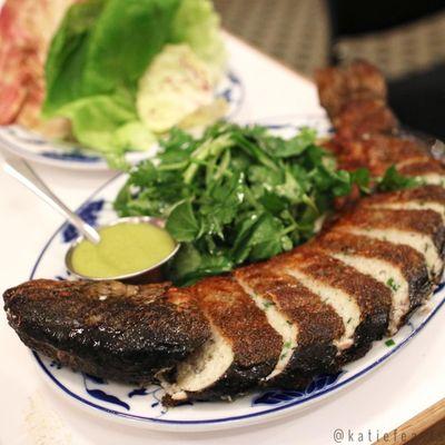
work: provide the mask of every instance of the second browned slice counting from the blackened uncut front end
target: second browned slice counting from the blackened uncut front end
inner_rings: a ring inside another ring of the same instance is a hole
[[[297,388],[319,373],[335,372],[345,332],[334,308],[270,261],[239,268],[235,277],[283,337],[283,349],[264,385]]]

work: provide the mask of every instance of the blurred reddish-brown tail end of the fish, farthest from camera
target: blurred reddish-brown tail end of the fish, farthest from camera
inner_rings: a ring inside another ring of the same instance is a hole
[[[445,186],[445,170],[425,144],[400,131],[386,102],[380,72],[364,61],[329,67],[316,75],[319,98],[336,135],[327,145],[346,170],[366,167],[382,176],[390,166],[403,175],[422,177],[425,184]]]

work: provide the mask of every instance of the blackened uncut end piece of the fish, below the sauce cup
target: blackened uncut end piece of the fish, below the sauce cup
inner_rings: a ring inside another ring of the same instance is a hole
[[[210,336],[189,299],[168,284],[33,280],[4,293],[9,324],[32,349],[73,369],[148,384]]]

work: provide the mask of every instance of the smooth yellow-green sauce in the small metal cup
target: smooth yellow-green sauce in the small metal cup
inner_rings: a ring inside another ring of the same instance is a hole
[[[167,230],[151,224],[121,222],[99,230],[100,243],[81,241],[73,250],[73,269],[91,278],[135,274],[162,261],[175,249]]]

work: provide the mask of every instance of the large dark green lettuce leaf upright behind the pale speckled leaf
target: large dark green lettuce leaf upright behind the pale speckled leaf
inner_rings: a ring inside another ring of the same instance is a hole
[[[179,0],[88,0],[73,4],[46,63],[43,112],[80,97],[135,91],[167,42]]]

